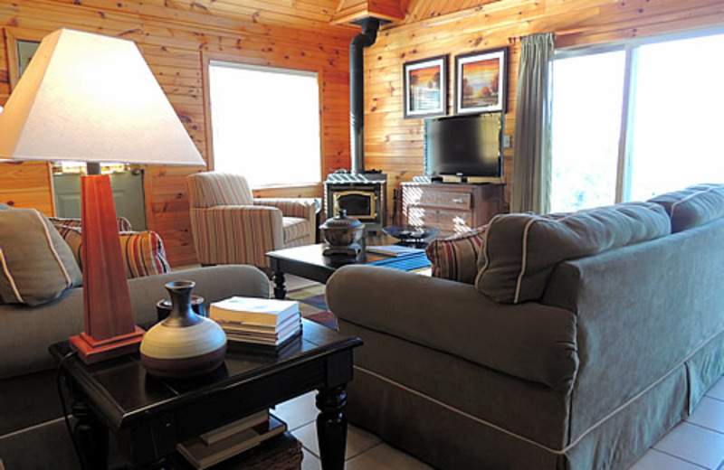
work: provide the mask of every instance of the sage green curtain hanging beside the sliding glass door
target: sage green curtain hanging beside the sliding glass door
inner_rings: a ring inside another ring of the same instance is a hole
[[[550,63],[553,33],[522,38],[513,137],[510,211],[550,208]]]

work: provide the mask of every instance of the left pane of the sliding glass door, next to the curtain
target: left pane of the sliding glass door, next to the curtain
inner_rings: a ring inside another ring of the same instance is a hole
[[[624,64],[624,52],[553,64],[550,205],[554,211],[615,201]]]

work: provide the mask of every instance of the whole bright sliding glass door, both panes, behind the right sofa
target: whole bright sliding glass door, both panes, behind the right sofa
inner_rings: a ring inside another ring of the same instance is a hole
[[[551,209],[724,182],[722,53],[724,34],[561,53],[553,64]]]

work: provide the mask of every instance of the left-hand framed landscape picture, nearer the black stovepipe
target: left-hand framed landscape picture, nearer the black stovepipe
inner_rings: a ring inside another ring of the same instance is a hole
[[[405,62],[405,118],[447,114],[447,56]]]

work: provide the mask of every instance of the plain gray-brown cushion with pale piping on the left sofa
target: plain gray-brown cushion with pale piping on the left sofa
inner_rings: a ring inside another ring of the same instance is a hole
[[[81,284],[71,249],[40,211],[0,211],[0,296],[5,303],[41,305]]]

